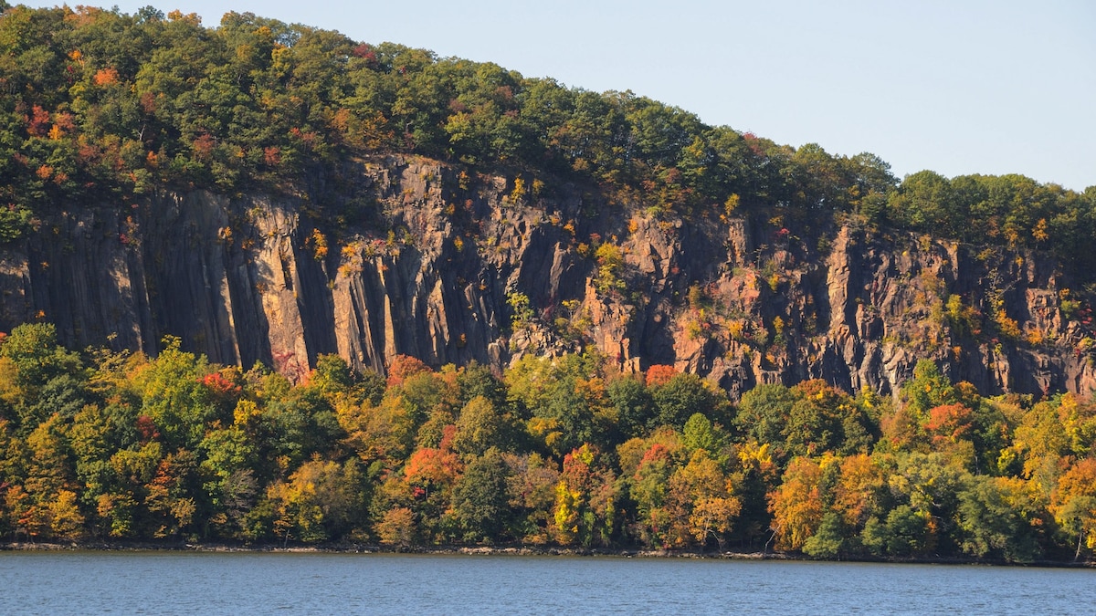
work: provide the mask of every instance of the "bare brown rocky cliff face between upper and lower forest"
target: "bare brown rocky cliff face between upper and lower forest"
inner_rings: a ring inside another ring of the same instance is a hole
[[[48,320],[72,346],[148,353],[172,334],[289,375],[326,353],[384,370],[395,354],[502,367],[596,347],[732,397],[807,378],[894,391],[924,357],[985,393],[1096,387],[1087,301],[1036,254],[779,216],[686,221],[415,158],[365,161],[344,184],[61,213],[0,251],[0,328]]]

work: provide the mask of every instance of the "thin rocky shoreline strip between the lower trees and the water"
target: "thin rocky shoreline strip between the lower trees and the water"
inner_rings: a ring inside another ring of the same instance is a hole
[[[606,558],[682,558],[694,560],[778,560],[788,562],[864,562],[889,564],[955,564],[983,567],[1039,567],[1061,569],[1096,569],[1094,561],[1038,560],[1034,562],[1008,562],[1005,560],[975,558],[843,558],[814,559],[798,552],[737,552],[695,551],[673,549],[628,549],[628,548],[563,548],[540,546],[381,546],[373,544],[320,544],[315,546],[276,544],[232,545],[232,544],[176,544],[176,543],[107,543],[75,541],[70,544],[9,541],[0,544],[0,552],[56,552],[56,551],[100,551],[100,552],[208,552],[208,554],[359,554],[359,555],[424,555],[424,556],[540,556],[540,557],[606,557]]]

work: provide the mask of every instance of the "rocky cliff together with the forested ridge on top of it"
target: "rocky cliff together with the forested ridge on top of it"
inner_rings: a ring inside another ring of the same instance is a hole
[[[1093,384],[1092,191],[899,183],[251,14],[15,8],[0,31],[4,329],[279,369],[592,346],[735,397],[895,391],[925,357],[985,392]]]

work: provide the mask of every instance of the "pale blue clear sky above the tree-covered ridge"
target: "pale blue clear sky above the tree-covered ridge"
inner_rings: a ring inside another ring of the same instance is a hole
[[[1020,173],[1077,191],[1096,185],[1093,0],[116,5],[133,13],[150,3],[197,13],[207,26],[226,11],[250,11],[573,88],[631,90],[778,144],[871,152],[899,178],[931,169],[949,178]]]

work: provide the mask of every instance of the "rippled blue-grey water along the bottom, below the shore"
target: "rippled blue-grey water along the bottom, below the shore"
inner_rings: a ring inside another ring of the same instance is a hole
[[[610,557],[0,552],[2,614],[1096,614],[1096,571]]]

